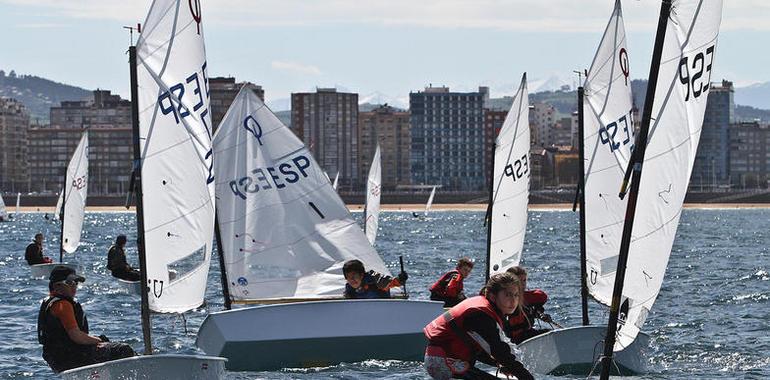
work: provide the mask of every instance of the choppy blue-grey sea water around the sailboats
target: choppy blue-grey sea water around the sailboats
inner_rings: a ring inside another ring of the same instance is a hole
[[[360,215],[360,214],[359,214]],[[397,271],[403,255],[408,290],[427,298],[427,287],[451,261],[467,255],[483,262],[485,229],[481,212],[434,212],[427,220],[386,212],[377,249]],[[647,320],[652,339],[652,372],[643,379],[770,378],[770,210],[685,210],[660,297]],[[58,256],[58,224],[40,213],[0,223],[0,378],[48,378],[52,372],[36,341],[36,315],[47,281],[29,279],[24,248],[36,232],[46,234],[45,252]],[[115,236],[129,236],[129,261],[137,263],[134,214],[88,213],[76,261],[87,282],[78,295],[92,333],[142,349],[139,297],[124,294],[106,270],[106,252]],[[562,325],[580,323],[577,217],[569,211],[530,212],[523,264],[530,287],[550,295],[549,312]],[[478,289],[483,269],[466,282]],[[194,353],[195,333],[206,313],[222,309],[216,260],[207,292],[208,310],[181,317],[154,316],[154,345],[165,353]],[[592,323],[606,321],[598,305]],[[606,322],[605,322],[606,323]],[[186,326],[186,329],[185,329]],[[355,349],[355,348],[351,348]],[[368,361],[278,372],[229,373],[229,378],[424,379],[421,363]]]

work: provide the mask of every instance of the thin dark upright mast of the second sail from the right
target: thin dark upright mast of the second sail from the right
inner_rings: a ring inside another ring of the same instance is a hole
[[[588,326],[588,283],[586,278],[586,198],[585,198],[585,147],[583,144],[583,86],[578,87],[578,187],[577,201],[580,204],[580,301],[583,311],[583,326]],[[573,210],[574,211],[574,210]]]

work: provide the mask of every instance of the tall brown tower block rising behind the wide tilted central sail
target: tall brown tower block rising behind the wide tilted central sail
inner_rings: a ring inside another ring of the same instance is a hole
[[[361,191],[358,94],[319,88],[291,94],[291,127],[329,175],[340,173],[341,190]]]

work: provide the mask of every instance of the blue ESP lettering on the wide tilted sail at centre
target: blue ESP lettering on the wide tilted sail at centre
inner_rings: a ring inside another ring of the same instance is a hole
[[[254,168],[249,174],[229,182],[233,195],[246,199],[247,194],[280,190],[307,178],[310,159],[303,154],[279,162],[274,166]]]

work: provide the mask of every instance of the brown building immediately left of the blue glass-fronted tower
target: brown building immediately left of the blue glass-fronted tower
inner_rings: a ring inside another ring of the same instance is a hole
[[[409,150],[412,146],[409,112],[387,104],[369,112],[358,113],[358,136],[361,163],[360,178],[367,178],[372,156],[380,143],[382,187],[395,189],[411,183]],[[329,173],[333,176],[335,173]]]

